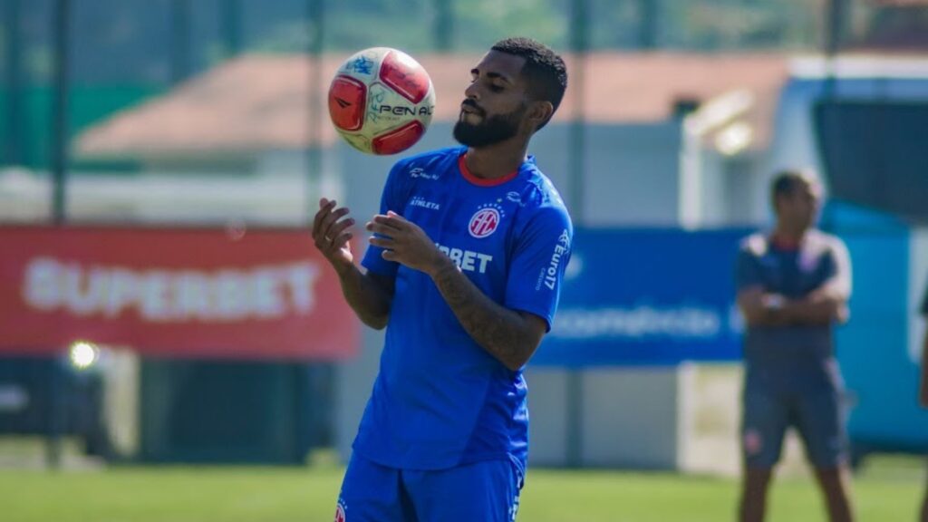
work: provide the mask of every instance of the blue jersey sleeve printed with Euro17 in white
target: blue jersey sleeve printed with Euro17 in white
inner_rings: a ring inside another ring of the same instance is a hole
[[[535,314],[550,331],[573,240],[574,228],[565,209],[540,208],[515,241],[504,305]]]

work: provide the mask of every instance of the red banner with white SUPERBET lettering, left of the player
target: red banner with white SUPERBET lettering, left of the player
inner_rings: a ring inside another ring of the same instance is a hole
[[[345,359],[358,329],[305,231],[0,227],[0,353]]]

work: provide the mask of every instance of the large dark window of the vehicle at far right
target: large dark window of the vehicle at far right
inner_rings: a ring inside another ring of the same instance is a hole
[[[815,125],[831,197],[928,223],[928,102],[823,101]]]

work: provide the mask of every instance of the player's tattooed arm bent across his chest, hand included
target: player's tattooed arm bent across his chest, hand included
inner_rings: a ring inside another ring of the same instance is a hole
[[[401,215],[376,215],[367,229],[380,236],[370,242],[385,249],[384,259],[428,274],[464,330],[509,370],[519,370],[532,357],[548,331],[546,320],[483,294],[419,226]]]

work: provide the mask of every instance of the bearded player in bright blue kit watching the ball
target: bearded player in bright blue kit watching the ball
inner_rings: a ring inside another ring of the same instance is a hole
[[[497,42],[470,71],[463,147],[399,161],[362,271],[348,209],[323,199],[316,247],[368,326],[386,327],[336,520],[516,517],[528,445],[522,368],[550,330],[573,228],[527,155],[567,85],[533,40]]]

